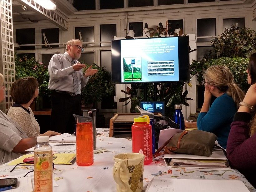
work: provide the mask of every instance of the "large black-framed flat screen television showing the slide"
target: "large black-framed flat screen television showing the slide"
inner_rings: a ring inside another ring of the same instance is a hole
[[[111,41],[112,83],[190,81],[189,36]]]

